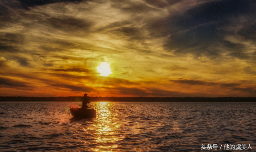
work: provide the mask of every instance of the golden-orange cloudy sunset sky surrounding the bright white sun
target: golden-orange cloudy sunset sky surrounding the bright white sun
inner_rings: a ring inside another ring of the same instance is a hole
[[[255,0],[0,0],[0,96],[256,97],[255,65]]]

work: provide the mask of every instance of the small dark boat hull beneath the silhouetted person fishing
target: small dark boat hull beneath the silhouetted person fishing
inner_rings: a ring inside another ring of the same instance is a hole
[[[70,108],[70,113],[74,118],[96,117],[96,110],[91,108]]]

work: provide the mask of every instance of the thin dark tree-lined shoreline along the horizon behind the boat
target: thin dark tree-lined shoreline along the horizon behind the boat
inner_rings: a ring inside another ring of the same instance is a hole
[[[82,96],[73,97],[0,97],[0,102],[43,102],[43,101],[77,101]],[[89,101],[144,101],[144,102],[256,102],[256,97],[88,97]]]

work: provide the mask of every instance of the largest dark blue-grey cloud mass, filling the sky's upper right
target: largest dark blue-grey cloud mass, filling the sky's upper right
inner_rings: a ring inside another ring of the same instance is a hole
[[[236,31],[228,29],[233,26],[235,18],[255,15],[255,4],[255,1],[241,0],[211,1],[191,8],[184,13],[170,16],[169,19],[166,18],[160,23],[156,22],[152,26],[160,27],[160,32],[171,34],[165,48],[170,51],[175,50],[177,54],[191,53],[195,56],[206,55],[209,58],[217,58],[223,53],[223,50],[213,48],[213,46],[221,43],[226,45],[223,47],[226,51],[230,51],[230,55],[245,58],[245,54],[243,54],[245,46],[243,44],[223,41],[226,35],[235,34]],[[255,21],[253,17],[250,19]],[[240,26],[243,24],[240,23]],[[243,35],[254,30],[252,27],[254,25],[249,25],[248,30],[245,30]],[[248,38],[253,38],[253,35],[255,34],[250,34]]]

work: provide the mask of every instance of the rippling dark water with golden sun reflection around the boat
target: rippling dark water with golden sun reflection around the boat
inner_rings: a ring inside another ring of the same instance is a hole
[[[97,117],[83,120],[72,118],[74,106],[0,102],[0,151],[256,149],[256,103],[92,102]]]

